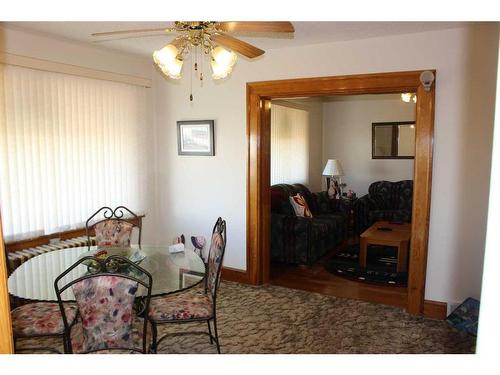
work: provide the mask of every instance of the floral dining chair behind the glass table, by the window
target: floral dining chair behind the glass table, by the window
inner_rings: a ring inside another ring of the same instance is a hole
[[[100,220],[99,220],[99,215]],[[128,214],[128,217],[124,217]],[[97,222],[93,222],[98,219]],[[132,229],[139,229],[138,244],[141,245],[142,220],[125,206],[118,206],[114,210],[110,207],[101,207],[85,223],[88,244],[90,247],[90,233],[95,231],[95,242],[99,247],[125,247],[130,246]]]

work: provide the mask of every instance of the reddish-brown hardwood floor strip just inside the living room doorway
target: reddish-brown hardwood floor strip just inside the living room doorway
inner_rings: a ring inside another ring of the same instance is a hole
[[[349,280],[324,268],[329,254],[312,266],[271,265],[270,284],[291,289],[359,299],[368,302],[406,307],[408,290],[401,286],[385,286]]]

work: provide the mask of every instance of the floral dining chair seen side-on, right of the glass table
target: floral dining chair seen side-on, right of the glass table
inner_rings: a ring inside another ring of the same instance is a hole
[[[206,321],[210,344],[215,341],[220,354],[216,301],[225,249],[226,222],[219,217],[212,230],[204,286],[151,299],[148,315],[153,331],[151,352],[156,353],[160,342],[168,336],[167,334],[158,339],[159,324]],[[212,334],[210,322],[213,322],[215,335]]]

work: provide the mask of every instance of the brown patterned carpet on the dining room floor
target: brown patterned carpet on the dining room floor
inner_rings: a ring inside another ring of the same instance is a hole
[[[222,353],[474,353],[475,338],[444,321],[403,310],[277,286],[223,282],[217,302]],[[204,331],[203,324],[163,325],[161,333]],[[31,341],[31,342],[30,342]],[[58,346],[59,340],[18,346]],[[62,345],[59,345],[61,347]],[[61,348],[62,349],[62,348]],[[216,353],[201,334],[171,336],[160,353]]]

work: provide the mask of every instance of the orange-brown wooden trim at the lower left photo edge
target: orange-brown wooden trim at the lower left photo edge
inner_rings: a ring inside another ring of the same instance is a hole
[[[7,286],[7,257],[3,243],[2,217],[0,215],[0,354],[14,353],[12,337],[9,290]]]

